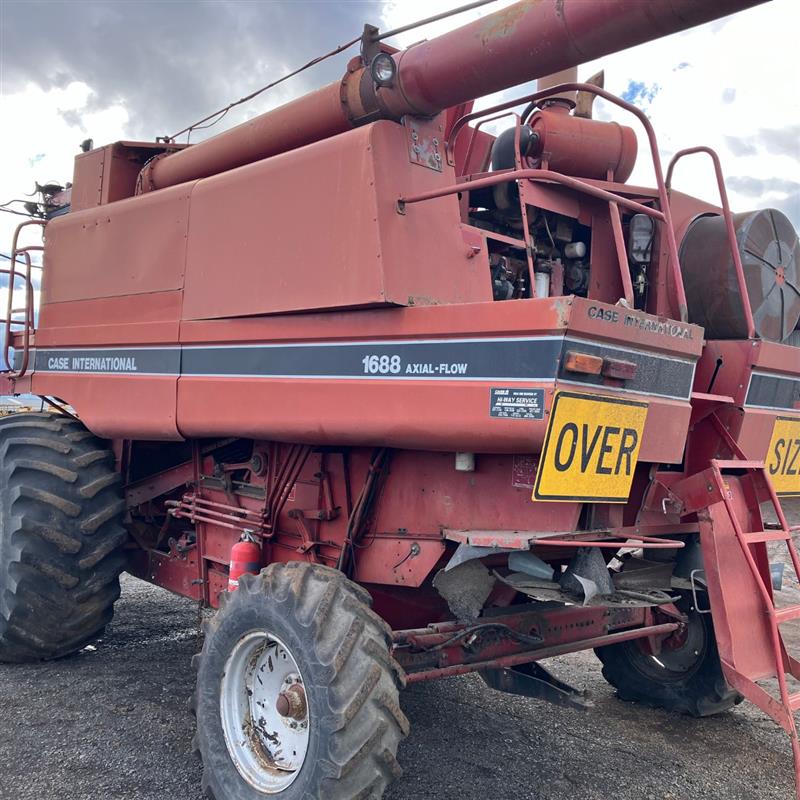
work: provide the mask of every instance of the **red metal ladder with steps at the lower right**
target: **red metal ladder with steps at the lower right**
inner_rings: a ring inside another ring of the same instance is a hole
[[[790,656],[780,626],[800,619],[800,605],[777,607],[767,559],[767,542],[784,542],[795,576],[800,558],[780,500],[762,461],[714,459],[702,473],[682,482],[684,513],[697,513],[711,613],[722,670],[728,683],[775,720],[789,735],[800,800],[800,741],[794,712],[800,691],[800,662]],[[676,487],[677,488],[677,487]],[[705,495],[705,497],[702,497]],[[766,526],[760,503],[770,501],[777,524]],[[757,682],[777,678],[777,696]]]

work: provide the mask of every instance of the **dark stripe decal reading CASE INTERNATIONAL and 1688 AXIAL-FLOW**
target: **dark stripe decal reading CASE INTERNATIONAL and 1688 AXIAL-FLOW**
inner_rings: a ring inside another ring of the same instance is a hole
[[[594,385],[598,376],[565,370],[565,353],[576,347],[584,353],[635,364],[636,374],[619,387],[622,391],[682,400],[689,397],[694,375],[692,358],[610,344],[600,347],[581,338],[553,335],[39,348],[32,350],[31,356],[34,370],[40,373],[322,380],[560,380]],[[522,395],[519,399],[523,399]],[[527,418],[542,416],[537,412]]]

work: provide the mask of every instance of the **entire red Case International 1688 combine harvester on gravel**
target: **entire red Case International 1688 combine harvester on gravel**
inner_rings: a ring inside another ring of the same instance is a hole
[[[8,388],[76,416],[0,420],[0,658],[92,641],[123,568],[220,606],[192,703],[217,800],[380,796],[404,685],[585,707],[539,662],[589,648],[627,699],[747,698],[800,763],[766,551],[800,567],[791,224],[732,215],[709,150],[720,205],[672,189],[694,151],[664,177],[594,84],[471,106],[754,2],[521,2],[402,52],[367,27],[282,108],[79,155],[70,212],[25,223],[35,332],[11,266]]]

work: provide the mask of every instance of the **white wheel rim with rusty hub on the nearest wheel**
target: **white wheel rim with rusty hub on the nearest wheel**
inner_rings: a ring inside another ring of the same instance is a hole
[[[266,631],[240,639],[225,664],[220,691],[225,744],[239,774],[263,794],[284,791],[305,761],[309,709],[304,687],[289,648]],[[287,704],[290,711],[283,716],[279,708],[286,711]]]

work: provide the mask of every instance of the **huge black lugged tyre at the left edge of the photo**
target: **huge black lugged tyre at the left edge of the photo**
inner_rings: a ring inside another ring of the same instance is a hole
[[[104,442],[62,414],[0,419],[0,661],[59,658],[114,613],[124,501]]]

